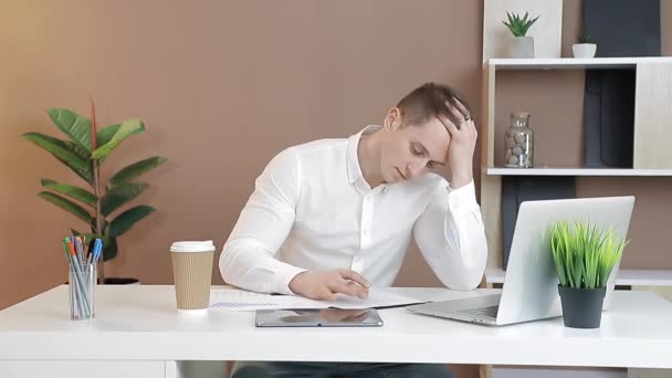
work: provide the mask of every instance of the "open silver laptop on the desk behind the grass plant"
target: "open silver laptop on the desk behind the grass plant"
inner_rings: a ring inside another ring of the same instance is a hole
[[[555,221],[588,220],[601,229],[611,227],[617,238],[623,238],[633,206],[631,196],[524,201],[518,209],[501,294],[431,302],[407,309],[493,326],[561,316],[548,227]],[[611,302],[619,264],[620,261],[607,281],[605,309]]]

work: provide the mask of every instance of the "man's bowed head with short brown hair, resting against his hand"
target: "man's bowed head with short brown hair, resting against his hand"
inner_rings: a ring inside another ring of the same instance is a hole
[[[450,133],[439,120],[444,115],[456,127],[460,122],[447,107],[466,102],[450,86],[427,83],[403,97],[388,111],[380,150],[380,169],[386,182],[422,176],[448,164]]]

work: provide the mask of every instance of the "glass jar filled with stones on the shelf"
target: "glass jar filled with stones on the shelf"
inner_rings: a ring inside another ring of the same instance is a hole
[[[504,136],[506,149],[504,166],[508,168],[532,168],[534,153],[534,133],[529,128],[529,113],[514,112],[511,125]]]

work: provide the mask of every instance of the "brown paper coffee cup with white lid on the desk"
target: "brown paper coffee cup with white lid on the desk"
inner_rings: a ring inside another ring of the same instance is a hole
[[[178,241],[170,245],[172,277],[179,313],[204,315],[210,302],[214,244],[208,241]]]

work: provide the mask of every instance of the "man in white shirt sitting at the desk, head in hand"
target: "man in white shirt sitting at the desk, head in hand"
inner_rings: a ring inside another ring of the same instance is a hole
[[[230,284],[366,298],[390,286],[411,237],[455,290],[481,281],[487,246],[473,183],[476,128],[452,88],[424,84],[382,126],[290,147],[266,166],[221,258]],[[450,185],[435,174],[450,169]],[[440,365],[243,363],[242,377],[450,377]],[[334,376],[335,377],[335,376]]]

